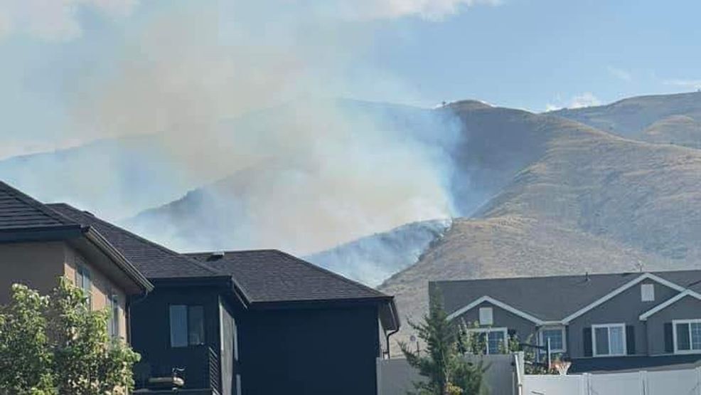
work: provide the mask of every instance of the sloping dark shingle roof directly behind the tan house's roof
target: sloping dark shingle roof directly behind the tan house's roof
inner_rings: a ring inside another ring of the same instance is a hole
[[[68,204],[47,204],[70,220],[84,226],[92,226],[117,248],[136,268],[149,279],[159,278],[203,278],[225,276],[214,268],[180,253],[146,240],[141,236],[103,221],[96,216],[76,209]]]

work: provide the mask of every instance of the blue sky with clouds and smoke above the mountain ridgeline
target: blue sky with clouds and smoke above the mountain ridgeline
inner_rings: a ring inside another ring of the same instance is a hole
[[[701,88],[699,1],[32,3],[0,4],[0,157],[307,94],[544,111]]]

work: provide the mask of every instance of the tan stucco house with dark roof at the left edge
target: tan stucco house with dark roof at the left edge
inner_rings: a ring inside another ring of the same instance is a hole
[[[109,309],[109,332],[124,339],[129,339],[129,297],[153,289],[95,228],[1,181],[0,266],[0,304],[9,301],[13,283],[48,293],[65,276],[85,290],[93,309]]]

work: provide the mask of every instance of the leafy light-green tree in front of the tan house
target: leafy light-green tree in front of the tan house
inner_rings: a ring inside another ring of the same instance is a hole
[[[127,394],[139,354],[107,334],[107,311],[61,278],[49,296],[13,285],[0,309],[0,392],[17,395]]]

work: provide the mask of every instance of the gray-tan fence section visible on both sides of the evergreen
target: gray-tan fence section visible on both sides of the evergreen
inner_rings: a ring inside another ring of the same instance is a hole
[[[481,359],[489,368],[485,373],[490,395],[513,395],[518,393],[516,367],[523,372],[523,353],[466,356],[471,362]],[[422,379],[409,366],[406,359],[378,359],[378,395],[406,395],[413,391],[413,383]]]

